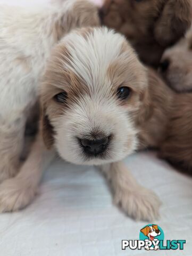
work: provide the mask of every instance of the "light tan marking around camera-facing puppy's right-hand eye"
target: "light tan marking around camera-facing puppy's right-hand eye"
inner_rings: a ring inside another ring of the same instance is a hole
[[[130,88],[129,99],[121,104],[136,113],[147,93],[147,72],[126,41],[122,44],[119,58],[108,66],[107,76],[113,84],[113,94],[116,94],[119,87]]]

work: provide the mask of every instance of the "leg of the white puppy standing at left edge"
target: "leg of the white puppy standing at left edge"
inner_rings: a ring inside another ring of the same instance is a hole
[[[14,126],[11,127],[10,126]],[[14,177],[19,170],[23,147],[24,122],[4,124],[0,128],[0,183]]]

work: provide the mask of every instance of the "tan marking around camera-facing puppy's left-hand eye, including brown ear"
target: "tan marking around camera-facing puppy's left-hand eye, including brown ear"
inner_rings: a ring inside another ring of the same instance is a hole
[[[81,95],[89,93],[84,79],[65,67],[66,64],[71,65],[70,59],[67,47],[62,43],[57,45],[41,85],[41,127],[47,148],[54,142],[52,120],[64,114]],[[66,103],[55,100],[55,95],[61,92],[68,95]]]

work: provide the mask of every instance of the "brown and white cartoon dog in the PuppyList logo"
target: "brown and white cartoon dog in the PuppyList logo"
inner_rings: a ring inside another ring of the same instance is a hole
[[[156,236],[161,235],[161,231],[158,229],[157,225],[152,226],[146,226],[145,228],[142,228],[140,230],[145,236],[148,237],[148,239],[145,239],[145,241],[158,241]],[[150,247],[148,245],[145,246],[145,249],[148,250],[157,250],[159,249],[158,245],[155,245],[155,247]]]

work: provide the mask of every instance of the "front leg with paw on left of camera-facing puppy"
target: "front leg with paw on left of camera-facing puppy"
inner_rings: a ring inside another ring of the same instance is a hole
[[[38,135],[20,172],[0,185],[0,212],[16,211],[28,205],[38,189],[43,170],[52,161],[53,150],[46,150]]]

